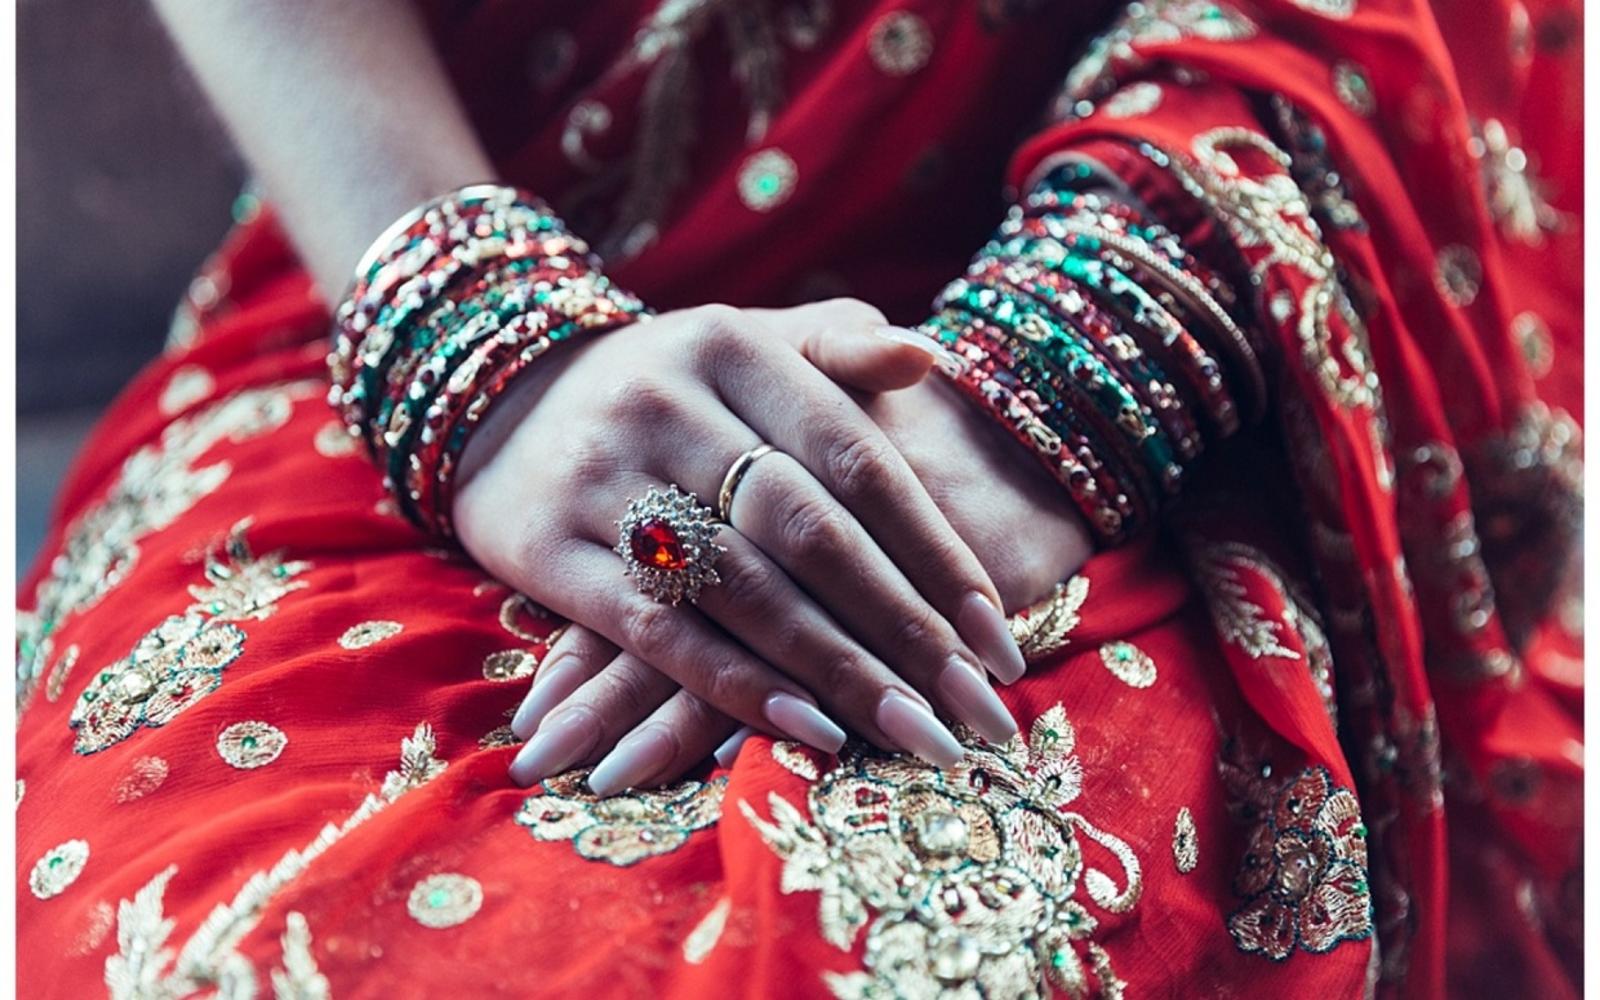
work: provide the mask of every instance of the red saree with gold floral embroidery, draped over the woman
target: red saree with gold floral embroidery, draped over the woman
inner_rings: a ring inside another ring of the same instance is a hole
[[[915,322],[1080,157],[1232,264],[1272,414],[1018,616],[1021,739],[522,790],[560,622],[395,515],[262,211],[22,589],[22,995],[1576,995],[1579,13],[1453,6],[432,5],[656,307]]]

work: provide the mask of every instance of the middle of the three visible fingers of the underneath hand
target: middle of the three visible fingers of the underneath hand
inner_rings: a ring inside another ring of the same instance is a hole
[[[550,710],[512,760],[512,781],[526,787],[594,760],[677,690],[637,656],[618,654]]]

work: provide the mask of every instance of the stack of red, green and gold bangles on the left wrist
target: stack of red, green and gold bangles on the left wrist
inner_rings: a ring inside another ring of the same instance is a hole
[[[550,346],[648,318],[538,198],[480,184],[381,235],[334,312],[330,402],[402,512],[450,536],[461,451]]]

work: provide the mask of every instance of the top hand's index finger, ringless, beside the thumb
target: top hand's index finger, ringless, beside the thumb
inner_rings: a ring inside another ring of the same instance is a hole
[[[699,363],[730,408],[861,522],[995,677],[1021,677],[1022,653],[994,582],[904,456],[838,386],[797,354],[760,350],[741,322],[749,320],[707,309],[701,336]]]

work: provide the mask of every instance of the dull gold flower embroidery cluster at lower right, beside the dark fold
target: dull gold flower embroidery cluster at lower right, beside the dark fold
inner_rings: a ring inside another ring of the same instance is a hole
[[[1234,893],[1245,904],[1229,915],[1238,950],[1288,958],[1320,954],[1373,934],[1366,885],[1366,826],[1355,794],[1312,766],[1272,781],[1272,766],[1224,752],[1219,762],[1232,806],[1251,824]]]

